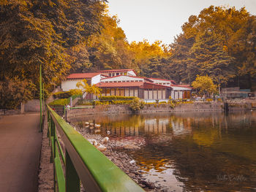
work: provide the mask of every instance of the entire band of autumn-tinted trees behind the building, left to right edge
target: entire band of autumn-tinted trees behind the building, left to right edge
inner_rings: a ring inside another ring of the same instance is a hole
[[[99,0],[0,2],[0,108],[46,94],[72,72],[135,69],[145,77],[222,87],[256,85],[256,19],[245,8],[208,7],[192,15],[171,45],[127,41]]]

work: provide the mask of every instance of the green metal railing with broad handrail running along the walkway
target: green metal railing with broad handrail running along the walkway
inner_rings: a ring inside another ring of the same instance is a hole
[[[80,192],[80,182],[86,191],[143,191],[49,106],[47,111],[55,191]]]

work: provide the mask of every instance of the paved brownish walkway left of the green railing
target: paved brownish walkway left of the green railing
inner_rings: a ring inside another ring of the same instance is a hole
[[[0,117],[0,191],[37,191],[39,114]]]

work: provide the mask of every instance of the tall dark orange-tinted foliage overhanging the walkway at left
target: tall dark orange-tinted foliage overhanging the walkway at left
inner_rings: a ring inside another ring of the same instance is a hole
[[[12,102],[0,107],[17,107],[38,95],[40,65],[48,93],[72,64],[84,63],[76,57],[83,58],[86,50],[77,47],[100,31],[104,10],[105,4],[94,0],[0,1],[0,93],[1,99],[10,100],[4,102]],[[20,88],[10,84],[6,90],[10,80]],[[16,96],[9,99],[12,90]]]

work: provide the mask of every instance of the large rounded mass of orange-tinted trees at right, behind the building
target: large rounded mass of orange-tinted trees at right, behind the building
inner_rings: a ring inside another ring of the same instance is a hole
[[[252,88],[256,82],[256,18],[243,7],[208,7],[192,15],[171,45],[170,77],[192,82],[208,75],[227,86]]]

